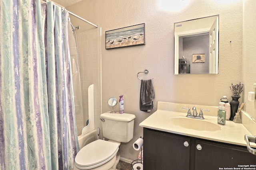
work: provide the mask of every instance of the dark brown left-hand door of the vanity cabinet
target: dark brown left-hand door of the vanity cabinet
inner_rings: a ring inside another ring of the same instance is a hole
[[[189,170],[189,154],[189,137],[144,128],[144,170]]]

